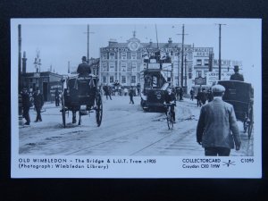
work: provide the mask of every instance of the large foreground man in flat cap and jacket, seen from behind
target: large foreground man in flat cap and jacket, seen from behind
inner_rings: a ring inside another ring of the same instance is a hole
[[[222,100],[224,91],[222,85],[214,85],[214,100],[201,107],[197,123],[197,143],[208,156],[228,156],[230,149],[239,150],[241,145],[233,106]]]

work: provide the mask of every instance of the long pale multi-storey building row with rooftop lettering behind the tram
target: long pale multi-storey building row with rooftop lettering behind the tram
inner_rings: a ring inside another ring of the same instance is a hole
[[[140,80],[140,71],[144,68],[144,60],[159,50],[162,58],[172,60],[172,86],[179,87],[182,83],[186,92],[195,85],[196,78],[205,78],[207,71],[218,71],[213,47],[184,44],[182,54],[182,44],[173,43],[172,38],[166,43],[143,43],[134,32],[126,43],[110,40],[108,46],[100,48],[100,82],[113,85],[118,80],[122,87],[136,86]],[[232,68],[232,64],[231,61],[222,60],[222,71]]]

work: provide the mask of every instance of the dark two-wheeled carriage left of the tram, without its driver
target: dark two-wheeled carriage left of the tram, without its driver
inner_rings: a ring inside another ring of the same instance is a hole
[[[72,113],[72,123],[76,123],[76,113],[81,116],[96,113],[96,125],[100,126],[103,116],[102,96],[97,88],[97,77],[66,77],[63,78],[62,114],[63,126],[66,127],[66,114]]]

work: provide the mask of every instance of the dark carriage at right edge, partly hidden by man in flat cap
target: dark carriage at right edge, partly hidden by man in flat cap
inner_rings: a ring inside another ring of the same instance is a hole
[[[243,122],[244,132],[250,138],[254,123],[254,90],[251,84],[236,80],[221,80],[218,84],[225,88],[222,99],[233,105],[237,119]]]

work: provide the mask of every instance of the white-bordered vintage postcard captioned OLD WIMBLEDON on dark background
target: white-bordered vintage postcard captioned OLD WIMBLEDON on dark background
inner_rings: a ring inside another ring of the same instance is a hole
[[[12,178],[262,178],[261,19],[12,19]]]

